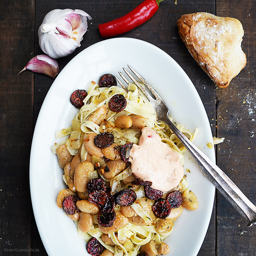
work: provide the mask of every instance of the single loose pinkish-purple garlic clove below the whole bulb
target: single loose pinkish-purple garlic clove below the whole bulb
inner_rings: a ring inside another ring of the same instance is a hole
[[[48,55],[41,54],[30,59],[26,67],[24,67],[19,74],[26,69],[55,78],[59,72],[59,65],[56,59],[52,59]]]

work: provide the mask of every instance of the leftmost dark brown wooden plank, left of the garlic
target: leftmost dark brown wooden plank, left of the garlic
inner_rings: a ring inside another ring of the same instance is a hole
[[[0,13],[0,254],[29,255],[33,74],[17,74],[33,57],[34,2],[2,0]]]

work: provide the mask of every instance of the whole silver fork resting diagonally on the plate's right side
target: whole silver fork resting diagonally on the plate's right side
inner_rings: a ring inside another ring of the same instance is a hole
[[[199,167],[204,171],[206,176],[210,179],[213,185],[223,194],[223,196],[234,206],[234,208],[240,213],[246,222],[246,225],[252,226],[256,224],[256,206],[250,202],[250,200],[241,192],[241,190],[228,178],[228,176],[208,158],[202,151],[200,151],[187,137],[180,132],[176,126],[170,121],[168,117],[169,109],[160,95],[141,77],[130,65],[130,70],[139,78],[139,80],[147,87],[152,93],[154,98],[148,93],[132,76],[128,70],[124,69],[124,72],[129,78],[139,87],[139,89],[148,98],[153,108],[156,111],[157,120],[165,122],[165,124],[173,131],[176,137],[182,142],[187,151],[191,154]],[[125,76],[119,72],[122,79],[128,84],[129,81]],[[117,81],[127,91],[126,86],[116,76]]]

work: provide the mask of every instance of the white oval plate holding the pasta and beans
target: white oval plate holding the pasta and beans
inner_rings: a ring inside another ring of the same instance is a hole
[[[71,125],[78,112],[69,102],[76,89],[86,89],[90,81],[98,83],[102,74],[117,74],[131,65],[163,97],[174,121],[200,133],[195,145],[215,161],[210,124],[202,101],[182,68],[165,52],[145,41],[131,38],[108,39],[78,54],[60,72],[39,113],[30,157],[30,190],[37,227],[49,256],[86,255],[85,241],[78,236],[73,221],[56,205],[59,191],[65,188],[63,170],[51,146],[55,133]],[[210,222],[215,187],[204,176],[191,156],[185,154],[185,173],[198,198],[195,211],[184,210],[165,242],[169,255],[196,256]],[[189,169],[191,173],[186,172]]]

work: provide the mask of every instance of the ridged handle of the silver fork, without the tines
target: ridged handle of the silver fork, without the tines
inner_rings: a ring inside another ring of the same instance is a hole
[[[167,117],[164,122],[174,132],[182,142],[187,151],[197,162],[202,171],[210,179],[213,185],[222,193],[222,195],[234,206],[245,220],[247,226],[256,224],[256,206],[242,193],[242,191],[228,178],[228,176],[200,151],[187,137],[176,128],[176,126]]]

